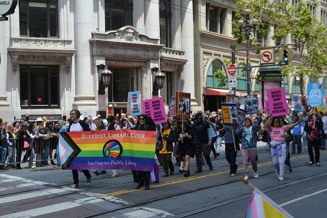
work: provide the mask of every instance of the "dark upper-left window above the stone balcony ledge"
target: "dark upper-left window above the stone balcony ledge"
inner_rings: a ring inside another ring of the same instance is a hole
[[[58,1],[19,1],[19,31],[21,36],[58,37]]]

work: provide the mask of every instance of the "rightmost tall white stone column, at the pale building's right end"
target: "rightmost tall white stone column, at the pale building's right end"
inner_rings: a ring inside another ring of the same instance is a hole
[[[193,1],[181,0],[180,2],[181,50],[185,51],[185,58],[188,59],[181,74],[181,88],[182,91],[191,93],[191,106],[197,106],[194,90]]]

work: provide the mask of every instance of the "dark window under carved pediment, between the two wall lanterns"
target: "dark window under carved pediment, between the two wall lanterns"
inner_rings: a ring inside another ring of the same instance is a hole
[[[109,102],[127,102],[129,91],[137,90],[136,69],[133,68],[110,68],[112,72],[111,83],[109,85]],[[136,89],[134,89],[134,87]],[[110,91],[111,90],[111,91]]]

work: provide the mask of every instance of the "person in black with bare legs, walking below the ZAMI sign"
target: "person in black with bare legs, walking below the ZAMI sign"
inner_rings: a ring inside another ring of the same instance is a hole
[[[182,124],[181,120],[178,124]],[[178,142],[177,154],[183,158],[185,164],[184,177],[188,177],[190,176],[190,158],[194,156],[194,149],[191,143],[194,140],[194,131],[190,127],[189,120],[183,120],[183,127],[177,130],[176,136]]]

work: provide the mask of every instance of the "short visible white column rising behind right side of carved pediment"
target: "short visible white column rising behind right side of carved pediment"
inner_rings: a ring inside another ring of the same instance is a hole
[[[145,34],[150,38],[160,38],[159,0],[145,1]]]

